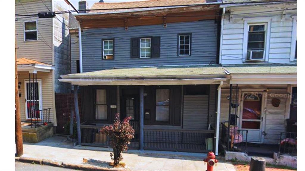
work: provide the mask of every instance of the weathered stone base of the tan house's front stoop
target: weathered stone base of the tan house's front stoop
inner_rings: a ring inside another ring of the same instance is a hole
[[[31,126],[22,126],[22,138],[23,142],[37,143],[45,138],[54,135],[54,125],[49,123],[48,125],[42,125],[34,128]]]

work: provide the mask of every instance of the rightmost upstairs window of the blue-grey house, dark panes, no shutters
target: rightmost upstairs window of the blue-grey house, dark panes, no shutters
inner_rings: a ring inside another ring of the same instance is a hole
[[[178,56],[191,55],[191,34],[179,34]]]

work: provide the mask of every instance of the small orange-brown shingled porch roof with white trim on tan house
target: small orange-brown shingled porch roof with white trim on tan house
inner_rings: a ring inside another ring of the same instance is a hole
[[[29,73],[37,73],[37,72],[50,72],[54,70],[54,66],[35,61],[28,58],[19,58],[17,59],[17,71],[27,71]]]

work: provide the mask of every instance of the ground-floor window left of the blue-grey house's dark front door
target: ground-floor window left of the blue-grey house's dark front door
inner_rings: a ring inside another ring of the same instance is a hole
[[[107,120],[107,91],[106,89],[97,89],[95,96],[95,119]]]

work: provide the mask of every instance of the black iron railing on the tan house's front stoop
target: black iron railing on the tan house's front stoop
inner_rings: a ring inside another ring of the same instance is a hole
[[[51,108],[42,110],[32,110],[30,113],[31,127],[39,127],[51,123]]]

